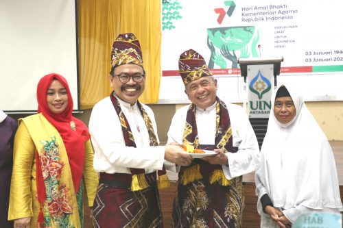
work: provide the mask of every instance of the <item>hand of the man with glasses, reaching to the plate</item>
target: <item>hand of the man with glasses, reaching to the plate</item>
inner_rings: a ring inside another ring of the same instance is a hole
[[[165,160],[180,166],[189,166],[193,161],[193,157],[189,153],[186,153],[181,147],[168,144],[165,146]]]

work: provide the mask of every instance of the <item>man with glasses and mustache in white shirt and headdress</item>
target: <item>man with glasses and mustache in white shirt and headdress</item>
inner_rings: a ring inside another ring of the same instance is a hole
[[[169,183],[163,163],[187,166],[192,157],[174,145],[158,147],[154,114],[138,101],[145,71],[134,34],[117,37],[111,64],[113,92],[93,107],[89,122],[94,168],[99,172],[94,225],[163,227],[157,188]]]

